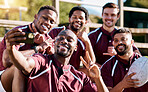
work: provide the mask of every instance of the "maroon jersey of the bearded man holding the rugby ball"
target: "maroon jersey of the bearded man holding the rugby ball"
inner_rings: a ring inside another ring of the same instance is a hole
[[[107,87],[115,87],[127,74],[131,64],[140,56],[133,54],[129,61],[112,56],[101,67],[101,75]],[[138,88],[126,88],[123,92],[148,92],[148,83]]]

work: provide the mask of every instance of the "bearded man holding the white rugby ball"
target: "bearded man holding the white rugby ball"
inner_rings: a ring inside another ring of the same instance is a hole
[[[137,79],[131,77],[135,73],[127,75],[131,64],[140,57],[133,52],[132,34],[128,29],[118,29],[113,34],[113,46],[117,55],[112,56],[102,65],[101,75],[110,92],[148,92],[148,83],[137,87]]]

